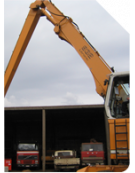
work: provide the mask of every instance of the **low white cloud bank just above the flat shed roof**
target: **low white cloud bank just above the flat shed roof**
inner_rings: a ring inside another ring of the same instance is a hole
[[[103,103],[104,101],[99,95],[90,94],[90,93],[77,95],[71,92],[66,92],[58,96],[55,94],[46,96],[44,94],[39,96],[33,95],[33,97],[27,97],[27,98],[25,98],[25,96],[16,98],[15,96],[12,95],[10,97],[4,98],[4,107],[88,105],[88,104],[103,104]]]

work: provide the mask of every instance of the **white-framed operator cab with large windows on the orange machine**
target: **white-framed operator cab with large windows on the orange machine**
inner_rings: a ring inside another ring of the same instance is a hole
[[[130,117],[130,75],[112,75],[106,97],[106,113],[109,118]],[[107,103],[108,102],[108,103]],[[107,108],[108,105],[108,108]]]

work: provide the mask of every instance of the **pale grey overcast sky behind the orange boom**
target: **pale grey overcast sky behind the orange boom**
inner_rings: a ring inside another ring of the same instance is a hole
[[[4,0],[4,70],[32,0]],[[130,33],[98,0],[52,0],[117,72],[130,70]],[[40,18],[4,99],[4,106],[103,104],[92,74],[54,26]]]

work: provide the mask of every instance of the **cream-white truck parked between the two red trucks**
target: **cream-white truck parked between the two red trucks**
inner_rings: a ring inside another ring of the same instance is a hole
[[[76,152],[73,150],[60,150],[54,153],[54,168],[60,169],[78,169],[80,158],[76,158]]]

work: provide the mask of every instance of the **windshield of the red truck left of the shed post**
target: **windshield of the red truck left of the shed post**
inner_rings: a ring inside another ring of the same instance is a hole
[[[36,144],[18,144],[18,150],[21,151],[35,151],[38,150],[38,146]]]

